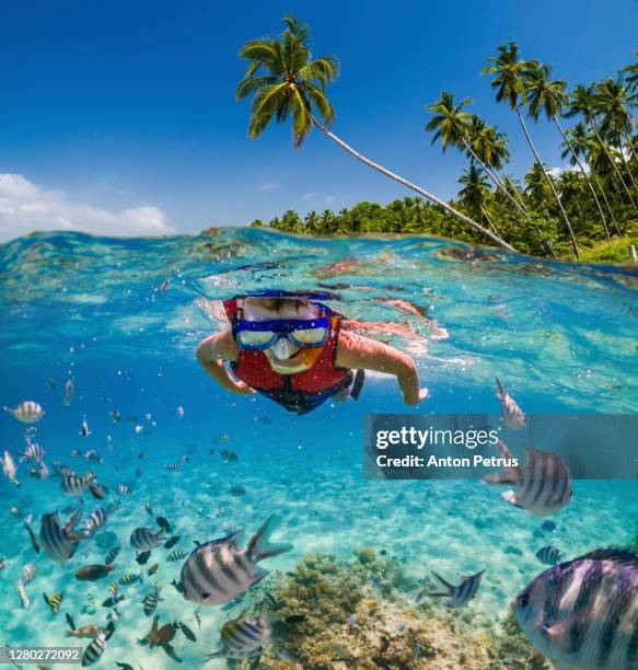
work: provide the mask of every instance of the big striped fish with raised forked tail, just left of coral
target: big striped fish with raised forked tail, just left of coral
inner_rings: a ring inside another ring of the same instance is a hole
[[[264,579],[268,573],[256,564],[292,548],[291,544],[268,544],[276,525],[277,519],[269,517],[245,548],[237,546],[241,532],[195,548],[182,566],[179,590],[184,598],[207,605],[223,604]]]

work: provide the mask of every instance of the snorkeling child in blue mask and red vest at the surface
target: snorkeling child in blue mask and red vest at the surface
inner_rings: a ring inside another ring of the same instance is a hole
[[[330,397],[356,400],[364,370],[394,374],[405,404],[420,403],[428,391],[419,386],[414,360],[344,328],[347,320],[318,302],[326,298],[269,291],[224,300],[232,330],[206,337],[197,347],[197,359],[227,391],[257,392],[298,414]]]

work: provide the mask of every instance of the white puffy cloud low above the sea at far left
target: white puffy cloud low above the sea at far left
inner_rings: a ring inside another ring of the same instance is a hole
[[[79,230],[98,235],[158,235],[175,232],[158,207],[111,211],[49,190],[21,174],[0,174],[0,240],[34,230]]]

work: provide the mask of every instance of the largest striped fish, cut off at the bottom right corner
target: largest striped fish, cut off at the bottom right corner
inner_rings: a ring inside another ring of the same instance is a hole
[[[556,667],[638,668],[638,556],[596,550],[545,570],[512,602],[521,628]]]

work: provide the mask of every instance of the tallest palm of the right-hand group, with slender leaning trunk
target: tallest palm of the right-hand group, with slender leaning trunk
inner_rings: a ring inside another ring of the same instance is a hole
[[[530,145],[530,149],[536,159],[536,163],[542,168],[547,185],[552,190],[552,195],[558,204],[558,209],[560,210],[562,221],[565,222],[565,228],[567,229],[567,233],[571,239],[573,253],[576,257],[579,258],[578,243],[576,241],[573,230],[571,229],[571,223],[569,222],[567,212],[560,203],[558,193],[556,193],[556,188],[554,187],[554,184],[545,170],[545,165],[538,155],[538,151],[536,151],[536,147],[530,137],[527,126],[525,125],[525,120],[523,119],[523,115],[521,113],[521,104],[525,102],[524,80],[532,63],[527,63],[519,58],[519,47],[515,42],[501,45],[498,47],[498,56],[488,58],[488,62],[492,62],[494,65],[483,68],[482,72],[484,74],[496,76],[491,81],[491,86],[492,89],[497,89],[497,102],[508,102],[510,108],[515,112],[517,116],[519,117],[519,122],[523,128],[527,143]]]

